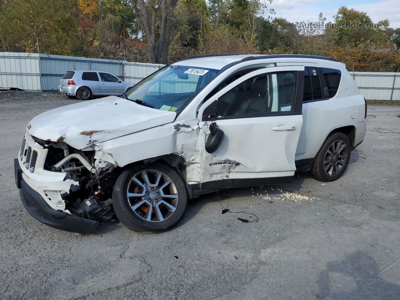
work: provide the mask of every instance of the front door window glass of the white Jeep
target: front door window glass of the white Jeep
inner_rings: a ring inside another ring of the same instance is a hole
[[[218,117],[241,117],[291,112],[297,72],[260,74],[245,80],[218,98]]]

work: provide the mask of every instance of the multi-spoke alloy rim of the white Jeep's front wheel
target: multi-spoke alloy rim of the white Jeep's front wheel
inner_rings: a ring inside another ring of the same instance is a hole
[[[178,206],[174,182],[158,170],[142,170],[128,183],[128,204],[142,220],[162,222],[170,218]]]

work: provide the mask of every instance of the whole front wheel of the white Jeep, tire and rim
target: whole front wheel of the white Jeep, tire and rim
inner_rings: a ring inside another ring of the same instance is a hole
[[[182,177],[172,167],[152,163],[122,172],[112,193],[115,214],[138,233],[162,232],[183,217],[188,194]]]

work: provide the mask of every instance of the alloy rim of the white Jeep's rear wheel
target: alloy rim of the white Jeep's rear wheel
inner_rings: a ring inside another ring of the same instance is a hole
[[[324,157],[325,174],[332,177],[340,173],[347,160],[347,145],[343,140],[336,140],[330,144]]]

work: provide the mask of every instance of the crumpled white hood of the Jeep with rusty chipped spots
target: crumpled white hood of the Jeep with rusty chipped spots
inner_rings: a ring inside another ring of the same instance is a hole
[[[176,112],[108,96],[44,112],[30,121],[27,130],[42,140],[64,141],[83,149],[95,142],[173,122],[175,116]]]

